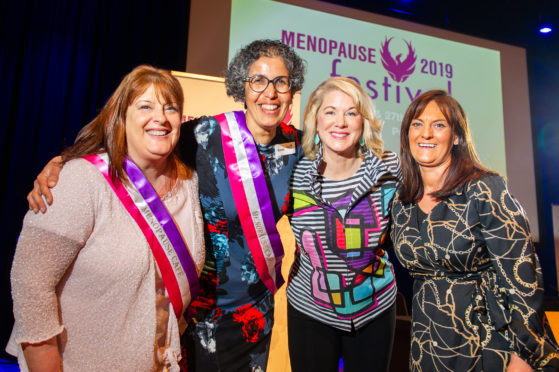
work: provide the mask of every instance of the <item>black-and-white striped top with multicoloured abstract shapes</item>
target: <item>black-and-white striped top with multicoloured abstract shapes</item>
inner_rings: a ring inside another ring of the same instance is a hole
[[[321,158],[303,158],[291,181],[291,226],[297,253],[287,298],[298,311],[351,331],[396,298],[392,264],[383,243],[390,206],[401,180],[396,154],[366,153],[358,171],[342,181],[318,173]]]

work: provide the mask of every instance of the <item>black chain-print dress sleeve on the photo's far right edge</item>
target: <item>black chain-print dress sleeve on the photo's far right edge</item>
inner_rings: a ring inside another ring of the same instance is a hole
[[[559,353],[543,312],[543,277],[522,207],[501,177],[475,182],[475,198],[503,304],[510,314],[512,347],[538,370],[559,370]]]

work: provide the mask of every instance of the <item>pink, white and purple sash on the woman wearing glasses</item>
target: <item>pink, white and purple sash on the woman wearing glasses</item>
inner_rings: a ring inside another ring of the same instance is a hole
[[[275,293],[284,283],[283,245],[254,138],[246,126],[244,112],[227,112],[215,118],[221,127],[233,198],[256,270],[268,290]]]

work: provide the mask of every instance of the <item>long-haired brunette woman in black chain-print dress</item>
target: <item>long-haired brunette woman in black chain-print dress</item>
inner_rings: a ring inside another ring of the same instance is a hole
[[[410,371],[557,371],[528,221],[479,161],[460,104],[421,94],[400,149],[392,240],[414,277]]]

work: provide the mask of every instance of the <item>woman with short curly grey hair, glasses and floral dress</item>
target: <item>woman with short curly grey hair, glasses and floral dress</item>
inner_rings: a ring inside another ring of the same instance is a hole
[[[283,120],[304,73],[289,46],[254,41],[237,53],[226,76],[227,94],[244,102],[246,112],[201,117],[181,129],[180,152],[196,154],[206,225],[201,294],[192,304],[195,322],[183,335],[189,371],[266,369],[273,295],[283,283],[276,222],[301,155],[299,131]],[[43,173],[56,172],[50,168]],[[46,177],[38,181],[42,186],[28,197],[35,210],[44,208],[41,190],[51,200]]]

